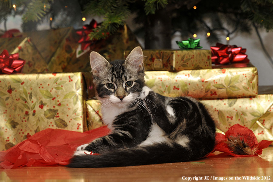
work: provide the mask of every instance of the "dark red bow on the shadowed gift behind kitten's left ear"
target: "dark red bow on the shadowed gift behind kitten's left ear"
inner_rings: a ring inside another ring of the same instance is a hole
[[[93,43],[93,41],[90,40],[90,37],[88,36],[88,34],[90,32],[93,32],[93,29],[96,28],[96,27],[97,27],[97,22],[96,22],[96,20],[93,19],[90,22],[89,25],[84,25],[83,29],[81,29],[79,31],[76,31],[76,33],[79,36],[81,36],[81,38],[79,39],[78,43],[81,44],[81,49],[82,50],[86,50],[86,48]]]

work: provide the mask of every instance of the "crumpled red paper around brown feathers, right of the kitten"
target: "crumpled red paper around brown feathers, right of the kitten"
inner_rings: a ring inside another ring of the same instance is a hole
[[[248,144],[248,146],[250,146],[251,149],[255,149],[254,152],[256,154],[240,155],[240,154],[233,153],[233,151],[231,151],[230,148],[227,146],[227,143],[225,143],[225,141],[228,140],[227,137],[230,137],[230,136],[242,137],[244,139],[244,141]],[[225,135],[223,135],[221,133],[217,133],[216,145],[215,145],[214,150],[212,152],[217,150],[219,152],[228,153],[229,155],[234,156],[234,157],[258,156],[258,155],[262,154],[262,151],[263,151],[262,149],[267,148],[272,142],[273,141],[262,140],[261,142],[258,143],[257,138],[251,129],[248,129],[248,128],[241,126],[239,124],[235,124],[227,130]]]

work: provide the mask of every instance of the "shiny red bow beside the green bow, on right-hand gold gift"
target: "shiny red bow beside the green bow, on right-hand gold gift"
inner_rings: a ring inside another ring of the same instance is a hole
[[[216,46],[211,46],[211,60],[215,64],[249,63],[248,55],[245,52],[246,49],[242,49],[242,47],[237,47],[236,45],[231,46],[216,43]]]

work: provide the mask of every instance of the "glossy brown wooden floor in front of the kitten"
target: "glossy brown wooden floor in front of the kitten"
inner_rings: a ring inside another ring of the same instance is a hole
[[[243,176],[247,178],[244,180]],[[191,181],[273,181],[273,147],[264,149],[263,154],[256,157],[236,158],[218,152],[208,158],[184,163],[114,168],[0,169],[0,181],[190,181],[186,177],[196,177]]]

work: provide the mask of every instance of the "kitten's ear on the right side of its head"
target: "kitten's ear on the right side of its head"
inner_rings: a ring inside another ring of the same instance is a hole
[[[143,70],[143,52],[140,46],[135,47],[125,60],[125,64],[136,68],[138,71]]]

